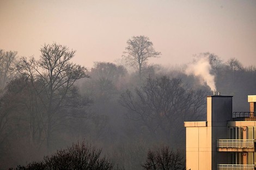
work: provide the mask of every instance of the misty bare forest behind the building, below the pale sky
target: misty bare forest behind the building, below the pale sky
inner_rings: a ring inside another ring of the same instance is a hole
[[[122,62],[92,68],[71,62],[76,51],[55,42],[40,52],[0,49],[0,169],[79,146],[106,156],[106,169],[154,169],[150,160],[161,153],[183,169],[184,121],[206,119],[206,96],[234,96],[233,110],[248,111],[247,95],[256,95],[255,66],[210,52],[181,66],[149,64],[161,52],[147,36],[127,40]]]

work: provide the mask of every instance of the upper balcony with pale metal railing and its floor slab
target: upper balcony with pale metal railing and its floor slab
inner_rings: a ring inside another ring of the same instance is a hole
[[[218,152],[254,152],[254,140],[217,140]]]

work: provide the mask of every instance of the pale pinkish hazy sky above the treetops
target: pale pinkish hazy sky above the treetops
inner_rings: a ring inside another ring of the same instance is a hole
[[[145,35],[163,65],[215,53],[223,60],[256,65],[256,1],[0,0],[0,48],[39,57],[44,43],[77,51],[74,62],[121,58],[126,41]]]

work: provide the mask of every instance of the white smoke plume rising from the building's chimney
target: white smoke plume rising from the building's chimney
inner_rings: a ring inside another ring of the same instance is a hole
[[[212,91],[216,91],[215,75],[210,73],[211,65],[208,56],[202,56],[189,64],[185,70],[187,75],[195,75],[199,78],[201,84],[207,84]]]

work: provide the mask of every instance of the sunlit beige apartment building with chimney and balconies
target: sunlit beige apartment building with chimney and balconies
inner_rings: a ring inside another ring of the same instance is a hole
[[[188,170],[254,170],[256,95],[248,96],[248,111],[233,112],[232,99],[208,96],[206,121],[184,122]]]

